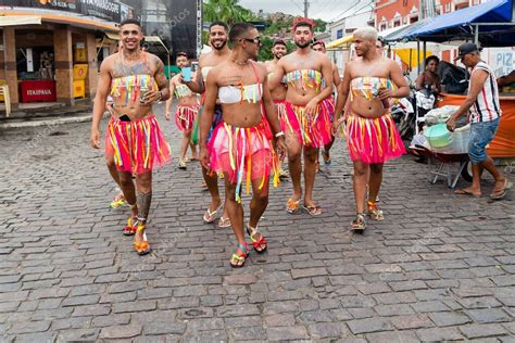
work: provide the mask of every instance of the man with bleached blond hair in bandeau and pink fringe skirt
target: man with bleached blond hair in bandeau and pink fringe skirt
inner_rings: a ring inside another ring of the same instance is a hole
[[[365,194],[369,175],[366,214],[382,220],[376,200],[382,181],[382,164],[405,153],[404,144],[390,116],[390,99],[409,94],[401,68],[392,60],[381,56],[376,49],[377,30],[364,27],[354,31],[357,58],[346,65],[343,82],[336,104],[332,132],[338,128],[347,98],[350,94],[347,118],[347,144],[354,164],[354,198],[356,217],[351,229],[362,232],[365,227]]]

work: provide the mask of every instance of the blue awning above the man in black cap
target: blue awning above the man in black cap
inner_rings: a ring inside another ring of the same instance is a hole
[[[449,28],[460,28],[476,23],[510,23],[512,0],[492,0],[463,10],[434,17],[429,23],[410,33],[411,37],[424,37]]]

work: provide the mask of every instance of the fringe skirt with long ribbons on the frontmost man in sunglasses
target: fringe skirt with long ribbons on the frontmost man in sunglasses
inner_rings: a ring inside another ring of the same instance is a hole
[[[274,186],[279,183],[277,157],[266,138],[265,125],[254,127],[236,127],[219,123],[208,143],[211,169],[224,173],[230,182],[236,183],[236,200],[241,201],[240,192],[243,180],[247,193],[250,193],[252,180],[261,179],[260,189],[268,182],[274,174]]]

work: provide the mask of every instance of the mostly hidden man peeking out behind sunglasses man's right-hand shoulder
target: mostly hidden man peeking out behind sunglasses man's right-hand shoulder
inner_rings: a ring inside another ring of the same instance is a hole
[[[268,73],[268,84],[274,75],[275,68],[277,67],[277,63],[279,62],[280,59],[282,59],[288,53],[286,41],[284,39],[274,40],[274,43],[272,45],[272,53],[274,54],[274,60],[265,62],[266,72]],[[286,100],[287,91],[288,91],[288,85],[284,82],[281,82],[279,87],[277,87],[276,89],[271,90],[272,100],[274,100],[275,109],[277,111],[277,115],[279,116],[279,122],[281,120],[282,117],[286,116],[285,100]],[[284,127],[281,127],[281,129],[285,130]],[[282,170],[282,160],[279,160],[278,167],[279,167],[279,177],[287,178],[288,173]]]

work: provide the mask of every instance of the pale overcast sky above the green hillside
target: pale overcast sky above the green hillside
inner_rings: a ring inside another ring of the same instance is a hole
[[[311,17],[330,22],[338,16],[343,17],[352,14],[352,10],[347,13],[344,11],[356,2],[366,4],[370,1],[310,0],[311,4],[307,13]],[[255,12],[263,10],[264,12],[282,12],[293,15],[303,14],[303,0],[240,0],[242,7]],[[357,7],[361,7],[361,4]]]

